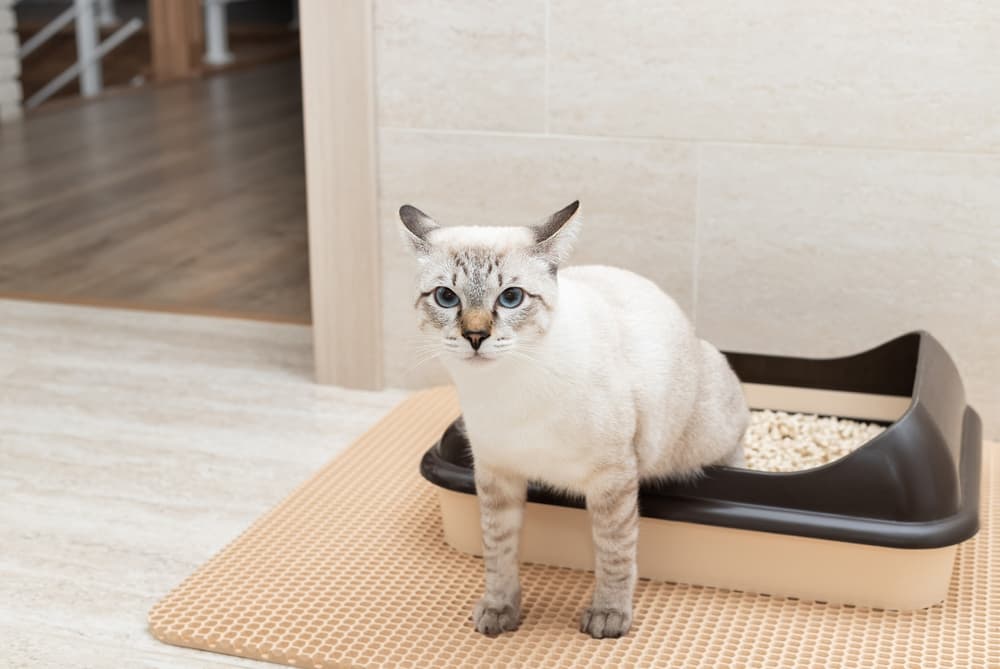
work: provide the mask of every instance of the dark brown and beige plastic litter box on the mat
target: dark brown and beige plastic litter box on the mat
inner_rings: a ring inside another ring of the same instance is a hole
[[[941,602],[958,544],[979,528],[982,428],[928,333],[857,355],[726,353],[754,409],[880,422],[839,460],[796,472],[710,467],[639,493],[640,578],[913,610]],[[460,420],[460,419],[459,419]],[[482,554],[472,457],[459,421],[424,455],[444,537]],[[583,500],[530,485],[525,562],[593,569]]]

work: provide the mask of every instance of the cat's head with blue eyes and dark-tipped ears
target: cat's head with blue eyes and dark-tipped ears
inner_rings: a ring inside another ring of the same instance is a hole
[[[414,306],[421,357],[446,366],[531,359],[559,299],[556,274],[580,225],[580,203],[524,227],[441,227],[404,205],[402,233],[420,266]]]

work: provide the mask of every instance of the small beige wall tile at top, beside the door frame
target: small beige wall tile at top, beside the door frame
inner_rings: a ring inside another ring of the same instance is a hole
[[[380,0],[375,70],[382,126],[541,131],[545,5]]]

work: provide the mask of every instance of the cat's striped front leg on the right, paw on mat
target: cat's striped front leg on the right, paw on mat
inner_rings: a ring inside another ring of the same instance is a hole
[[[634,465],[606,469],[587,490],[596,584],[590,608],[580,619],[580,631],[595,639],[622,636],[632,625],[638,497],[639,477]]]

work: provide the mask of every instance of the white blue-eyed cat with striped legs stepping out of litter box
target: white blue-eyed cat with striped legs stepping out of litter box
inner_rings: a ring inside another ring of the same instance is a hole
[[[632,624],[640,480],[739,466],[749,410],[725,357],[653,282],[563,268],[579,201],[525,227],[441,227],[410,205],[425,347],[458,390],[472,448],[486,569],[477,631],[517,629],[518,542],[528,481],[583,496],[595,589],[580,631]]]

